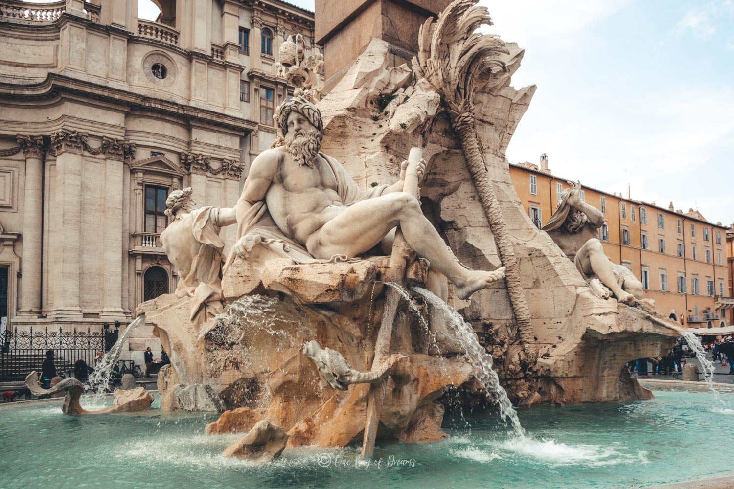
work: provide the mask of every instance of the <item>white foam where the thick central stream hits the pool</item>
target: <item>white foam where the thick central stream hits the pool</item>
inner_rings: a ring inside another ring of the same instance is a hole
[[[515,452],[523,457],[533,458],[553,466],[585,465],[591,467],[614,466],[620,463],[649,463],[646,452],[628,453],[622,446],[578,444],[569,445],[551,439],[514,437],[501,442],[498,448]]]

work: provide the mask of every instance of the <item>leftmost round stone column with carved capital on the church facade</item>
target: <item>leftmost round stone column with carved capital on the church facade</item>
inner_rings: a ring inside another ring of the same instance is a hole
[[[23,260],[19,315],[38,315],[41,308],[41,247],[43,233],[43,138],[18,136],[26,155],[26,187],[23,197]]]

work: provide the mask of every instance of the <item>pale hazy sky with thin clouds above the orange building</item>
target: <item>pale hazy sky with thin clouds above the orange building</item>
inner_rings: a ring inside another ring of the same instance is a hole
[[[480,3],[526,50],[512,84],[538,86],[509,161],[734,220],[734,0]]]

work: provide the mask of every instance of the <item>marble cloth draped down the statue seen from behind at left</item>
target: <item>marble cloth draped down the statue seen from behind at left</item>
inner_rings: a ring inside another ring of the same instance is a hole
[[[191,213],[192,232],[200,244],[189,274],[178,281],[175,295],[191,297],[195,324],[222,312],[222,262],[225,242],[219,236],[219,209],[208,205]]]

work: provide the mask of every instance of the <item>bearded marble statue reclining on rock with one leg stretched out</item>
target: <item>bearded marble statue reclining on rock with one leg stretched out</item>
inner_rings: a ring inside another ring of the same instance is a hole
[[[338,161],[319,152],[323,123],[313,103],[302,97],[283,103],[277,125],[285,144],[252,162],[236,205],[239,240],[228,263],[247,259],[258,245],[297,262],[348,260],[378,245],[389,254],[399,226],[410,248],[451,280],[459,298],[504,277],[504,268],[470,271],[459,264],[418,199],[402,191],[407,161],[398,182],[362,191]],[[424,171],[421,161],[419,179]]]

